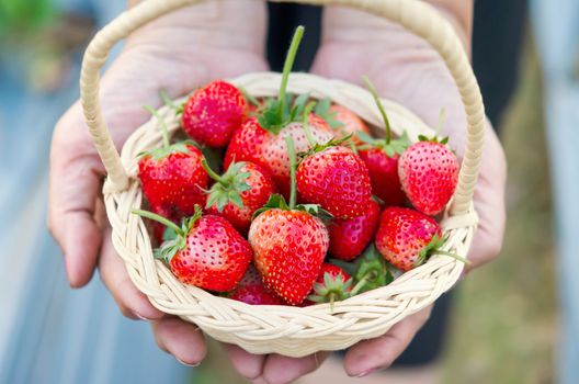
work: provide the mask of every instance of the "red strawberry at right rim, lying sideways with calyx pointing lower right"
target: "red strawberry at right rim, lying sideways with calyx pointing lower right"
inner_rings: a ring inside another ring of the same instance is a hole
[[[394,206],[382,213],[376,248],[401,271],[422,264],[442,242],[441,228],[430,216]]]

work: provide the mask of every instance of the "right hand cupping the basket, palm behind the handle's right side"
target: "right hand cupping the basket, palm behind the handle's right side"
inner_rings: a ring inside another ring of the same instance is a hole
[[[435,1],[439,5],[444,2]],[[468,18],[455,16],[446,10],[442,13],[450,18],[468,49]],[[466,120],[458,91],[441,57],[419,37],[367,13],[329,8],[325,13],[322,46],[314,72],[361,86],[362,76],[366,75],[381,95],[409,108],[433,127],[444,109],[446,120],[443,132],[450,135],[451,145],[461,156]],[[490,125],[487,125],[475,191],[475,208],[480,221],[468,255],[472,261],[469,269],[492,260],[501,249],[506,177],[504,154]],[[425,323],[430,310],[429,307],[405,319],[378,339],[350,348],[344,359],[347,373],[359,376],[389,366]]]

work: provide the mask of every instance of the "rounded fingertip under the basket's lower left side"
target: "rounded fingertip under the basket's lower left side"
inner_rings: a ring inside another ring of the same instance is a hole
[[[159,348],[171,353],[184,365],[196,366],[207,354],[203,334],[191,323],[167,317],[154,321],[152,331]]]

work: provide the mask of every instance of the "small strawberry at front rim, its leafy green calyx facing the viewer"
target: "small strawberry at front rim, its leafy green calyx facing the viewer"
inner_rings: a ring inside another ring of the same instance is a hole
[[[325,262],[321,266],[318,279],[314,283],[314,290],[308,301],[314,303],[330,303],[350,297],[352,291],[352,278],[338,266]]]

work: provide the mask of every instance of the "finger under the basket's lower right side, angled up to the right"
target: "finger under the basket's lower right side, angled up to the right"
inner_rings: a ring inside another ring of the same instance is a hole
[[[404,352],[430,316],[432,306],[396,324],[384,336],[362,341],[345,353],[344,369],[350,376],[363,377],[386,369]]]

